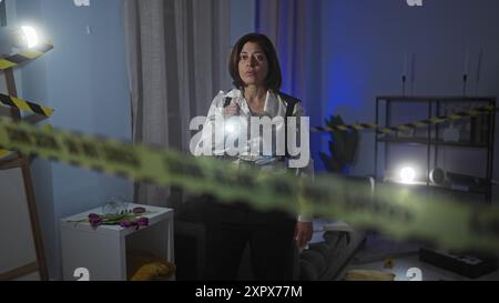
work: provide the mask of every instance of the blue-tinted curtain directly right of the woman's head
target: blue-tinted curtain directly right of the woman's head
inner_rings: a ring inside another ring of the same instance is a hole
[[[324,124],[320,1],[255,0],[255,30],[267,34],[277,50],[283,70],[282,91],[303,101],[312,125]],[[320,159],[323,138],[310,133],[313,159]]]

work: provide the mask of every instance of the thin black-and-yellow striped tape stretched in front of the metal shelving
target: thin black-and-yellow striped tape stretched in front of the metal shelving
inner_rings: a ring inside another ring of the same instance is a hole
[[[399,124],[390,128],[384,128],[377,124],[369,124],[369,123],[361,123],[361,124],[355,124],[355,125],[328,125],[328,127],[315,127],[310,130],[314,132],[335,132],[335,131],[350,131],[350,130],[357,130],[357,131],[364,131],[364,130],[376,130],[379,133],[389,134],[398,131],[407,131],[411,129],[417,128],[426,128],[429,125],[440,124],[448,121],[456,121],[461,120],[468,117],[476,117],[480,114],[490,114],[492,112],[498,111],[497,108],[492,105],[481,107],[477,109],[472,109],[469,111],[462,111],[457,113],[451,113],[444,117],[431,117],[429,119],[425,120],[418,120],[406,124]]]

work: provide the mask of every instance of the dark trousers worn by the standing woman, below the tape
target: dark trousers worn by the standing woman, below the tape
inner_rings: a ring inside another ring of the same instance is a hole
[[[255,211],[242,203],[208,203],[205,225],[206,280],[236,280],[247,244],[256,280],[293,280],[294,218]]]

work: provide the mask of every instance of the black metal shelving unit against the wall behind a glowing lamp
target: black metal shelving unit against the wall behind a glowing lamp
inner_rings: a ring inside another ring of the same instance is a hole
[[[398,103],[417,103],[417,104],[426,104],[422,107],[421,114],[417,120],[429,119],[431,117],[442,117],[447,113],[442,113],[442,107],[447,107],[449,104],[461,104],[461,105],[470,105],[472,108],[492,105],[496,107],[496,98],[487,98],[487,97],[404,97],[404,95],[381,95],[376,98],[376,124],[381,127],[394,127],[394,105]],[[426,112],[426,113],[425,113]],[[485,196],[485,200],[490,203],[492,196],[492,176],[493,176],[493,144],[495,144],[495,112],[489,114],[481,115],[483,119],[480,119],[482,124],[480,124],[479,129],[473,129],[471,127],[469,140],[467,141],[445,141],[440,131],[442,130],[442,125],[432,124],[429,125],[424,133],[419,133],[415,137],[399,137],[398,133],[395,135],[381,134],[377,133],[375,137],[375,178],[376,180],[380,179],[379,171],[379,144],[385,144],[385,149],[383,152],[384,156],[384,171],[383,174],[388,171],[388,166],[390,163],[390,147],[394,144],[404,144],[408,147],[426,147],[426,180],[424,182],[419,182],[420,185],[426,185],[430,188],[438,188],[445,190],[454,190],[450,184],[434,184],[430,182],[429,173],[432,168],[438,166],[439,161],[439,149],[444,147],[451,147],[456,149],[479,149],[486,152],[487,163],[486,163],[486,172],[485,180],[486,185],[478,190],[470,189],[469,193],[478,193]],[[413,122],[413,121],[405,121]],[[476,124],[477,118],[471,118],[470,123]],[[477,127],[477,125],[476,125]],[[478,127],[477,127],[478,128]],[[431,156],[431,152],[434,152],[434,156]],[[470,159],[472,160],[472,159]],[[472,176],[472,175],[470,175]],[[476,176],[478,178],[478,176]],[[483,178],[481,178],[483,179]]]

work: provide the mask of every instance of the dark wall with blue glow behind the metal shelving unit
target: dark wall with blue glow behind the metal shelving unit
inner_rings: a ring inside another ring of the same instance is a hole
[[[496,0],[424,1],[422,8],[410,8],[404,0],[323,0],[324,112],[339,113],[346,123],[374,122],[375,97],[401,94],[405,53],[416,55],[409,94],[460,95],[468,50],[468,92],[499,95],[498,12]],[[477,85],[480,49],[483,65]],[[373,171],[374,134],[365,133],[353,173]],[[495,171],[497,175],[498,165]]]

